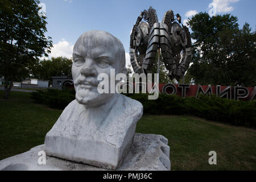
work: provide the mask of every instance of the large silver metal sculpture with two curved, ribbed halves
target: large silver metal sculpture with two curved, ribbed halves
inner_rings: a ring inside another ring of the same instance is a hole
[[[179,81],[184,76],[191,61],[191,36],[188,28],[180,23],[181,16],[174,15],[172,10],[159,23],[151,6],[138,16],[130,36],[130,61],[135,73],[150,73],[160,51],[171,80]]]

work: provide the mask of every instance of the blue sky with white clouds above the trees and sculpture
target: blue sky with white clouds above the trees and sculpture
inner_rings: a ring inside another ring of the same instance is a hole
[[[167,10],[179,13],[182,22],[189,16],[209,12],[209,4],[216,5],[217,14],[230,13],[238,17],[240,27],[247,22],[255,31],[255,0],[42,0],[47,15],[46,36],[51,36],[53,49],[50,56],[71,57],[73,44],[79,36],[90,30],[104,30],[117,37],[129,53],[130,32],[138,15],[152,6],[162,20]]]

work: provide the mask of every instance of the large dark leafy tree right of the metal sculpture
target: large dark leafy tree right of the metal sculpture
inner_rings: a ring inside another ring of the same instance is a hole
[[[236,16],[210,17],[199,13],[188,20],[193,31],[193,64],[188,69],[196,84],[255,86],[255,32]]]

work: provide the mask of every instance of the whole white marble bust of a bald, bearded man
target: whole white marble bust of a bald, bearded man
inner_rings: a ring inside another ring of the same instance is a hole
[[[82,34],[73,48],[76,100],[47,133],[47,155],[108,169],[121,166],[143,106],[122,94],[98,92],[97,76],[110,78],[110,69],[115,75],[127,72],[122,43],[104,31]]]

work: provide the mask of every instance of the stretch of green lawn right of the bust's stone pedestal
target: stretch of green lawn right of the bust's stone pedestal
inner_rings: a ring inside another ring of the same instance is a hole
[[[145,115],[138,133],[168,139],[174,170],[255,170],[256,131],[209,122],[191,116]],[[209,165],[209,151],[217,152],[217,165]]]

